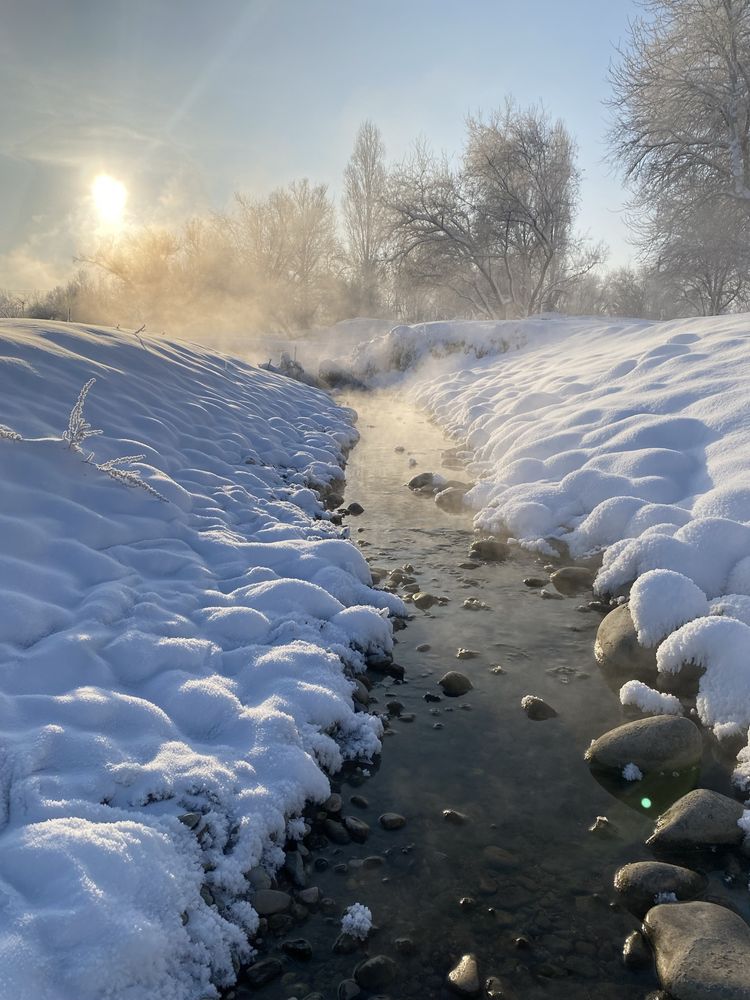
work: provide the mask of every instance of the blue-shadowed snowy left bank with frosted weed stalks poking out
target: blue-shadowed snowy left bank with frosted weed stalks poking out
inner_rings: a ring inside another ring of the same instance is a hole
[[[2,322],[0,424],[1,992],[214,995],[257,922],[245,873],[321,768],[380,745],[343,664],[403,605],[313,492],[352,414],[185,345]],[[111,472],[164,499],[98,467],[136,453]]]

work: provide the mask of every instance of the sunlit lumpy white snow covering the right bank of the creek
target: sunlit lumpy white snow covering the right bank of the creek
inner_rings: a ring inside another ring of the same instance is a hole
[[[425,324],[351,364],[381,380],[406,369],[417,402],[474,449],[465,502],[478,528],[542,553],[555,540],[573,556],[604,549],[596,586],[617,595],[636,581],[631,613],[659,671],[705,668],[703,723],[747,734],[750,316]],[[643,684],[622,700],[679,710]],[[750,789],[750,747],[735,777]]]

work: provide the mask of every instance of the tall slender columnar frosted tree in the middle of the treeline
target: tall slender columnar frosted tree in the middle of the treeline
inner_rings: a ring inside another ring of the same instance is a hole
[[[385,195],[385,146],[377,126],[365,121],[344,170],[341,199],[353,304],[364,314],[376,313],[381,303],[388,236]]]

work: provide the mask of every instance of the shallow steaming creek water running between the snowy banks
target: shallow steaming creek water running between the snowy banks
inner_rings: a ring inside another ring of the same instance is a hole
[[[397,977],[363,997],[447,997],[446,973],[473,952],[482,982],[501,980],[496,996],[643,998],[656,979],[650,969],[623,965],[623,940],[639,922],[614,902],[612,877],[621,864],[651,856],[643,842],[655,817],[610,795],[583,760],[593,737],[623,721],[593,657],[600,615],[577,610],[586,595],[542,600],[524,586],[525,577],[545,575],[530,556],[461,568],[471,518],[443,513],[405,487],[421,471],[463,478],[442,467],[453,442],[392,395],[342,402],[358,411],[362,435],[347,467],[346,502],[365,508],[347,519],[352,540],[374,567],[411,564],[420,589],[448,603],[414,608],[396,633],[403,683],[370,672],[371,710],[384,714],[398,700],[406,716],[391,718],[382,758],[333,779],[343,813],[369,824],[366,843],[311,838],[308,885],[327,898],[325,910],[266,936],[259,957],[281,958],[284,975],[259,993],[240,986],[232,994],[302,1000],[317,992],[333,1000],[358,962],[383,954],[397,963]],[[489,609],[465,608],[470,597]],[[418,651],[423,644],[429,650]],[[458,647],[478,655],[459,661]],[[493,672],[497,665],[504,672]],[[443,697],[438,686],[451,669],[471,679],[462,697]],[[526,694],[544,698],[558,716],[527,718]],[[352,795],[366,805],[352,804]],[[446,821],[444,809],[464,813],[465,822]],[[386,811],[402,814],[405,826],[382,829]],[[609,836],[589,832],[600,815],[612,824]],[[355,953],[338,954],[341,913],[354,902],[372,910],[377,930]],[[279,950],[299,937],[313,947],[304,963]],[[411,946],[400,938],[410,939],[413,953],[404,954]]]

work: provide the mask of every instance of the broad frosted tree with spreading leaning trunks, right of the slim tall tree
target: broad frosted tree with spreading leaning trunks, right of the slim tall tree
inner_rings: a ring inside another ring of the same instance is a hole
[[[578,180],[562,122],[509,101],[468,120],[458,166],[421,145],[392,173],[394,257],[415,280],[452,289],[470,314],[554,309],[600,258],[573,233]]]

